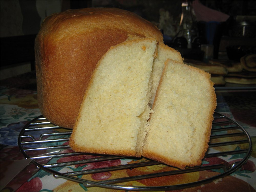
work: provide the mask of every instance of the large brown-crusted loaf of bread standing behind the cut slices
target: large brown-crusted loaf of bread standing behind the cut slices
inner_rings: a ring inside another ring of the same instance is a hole
[[[97,62],[127,33],[162,33],[134,13],[117,8],[67,10],[47,17],[35,40],[38,105],[52,123],[73,128]]]

